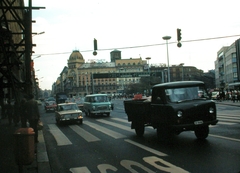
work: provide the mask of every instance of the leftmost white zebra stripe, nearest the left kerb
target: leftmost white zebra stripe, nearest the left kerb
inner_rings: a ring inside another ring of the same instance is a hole
[[[61,132],[61,130],[55,124],[48,124],[48,127],[54,136],[58,146],[72,144],[72,142]]]

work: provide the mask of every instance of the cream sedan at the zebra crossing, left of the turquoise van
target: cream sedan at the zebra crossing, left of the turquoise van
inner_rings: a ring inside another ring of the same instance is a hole
[[[74,122],[82,124],[82,111],[78,109],[76,103],[60,103],[55,112],[56,123]]]

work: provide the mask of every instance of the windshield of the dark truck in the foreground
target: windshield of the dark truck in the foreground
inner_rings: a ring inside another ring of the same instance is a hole
[[[208,98],[206,90],[201,87],[172,88],[166,89],[165,93],[168,101],[170,102],[182,102],[186,100]]]

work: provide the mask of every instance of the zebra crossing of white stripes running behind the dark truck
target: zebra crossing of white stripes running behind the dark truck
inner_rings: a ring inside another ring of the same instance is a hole
[[[240,124],[240,116],[238,115],[218,115],[218,124],[217,126],[220,125],[235,125],[235,124]],[[95,121],[95,122],[94,122]],[[101,141],[101,139],[94,134],[88,132],[85,130],[85,126],[88,126],[102,134],[105,134],[111,138],[114,139],[121,139],[121,138],[127,138],[126,133],[119,132],[120,131],[125,131],[127,133],[133,133],[135,134],[135,131],[131,129],[131,124],[130,122],[127,121],[127,118],[125,117],[124,119],[120,118],[109,118],[109,119],[95,119],[94,121],[88,121],[84,120],[82,125],[69,125],[69,128],[75,132],[77,135],[79,135],[81,138],[83,138],[87,142],[97,142]],[[109,128],[109,127],[111,128]],[[217,126],[210,126],[210,127],[217,127]],[[61,131],[61,129],[56,125],[56,124],[48,124],[49,131],[55,138],[57,145],[58,146],[64,146],[64,145],[72,145],[72,142],[68,139],[68,137]],[[118,129],[118,130],[115,130]],[[154,133],[155,130],[152,127],[148,127],[145,129],[145,134],[147,133]]]

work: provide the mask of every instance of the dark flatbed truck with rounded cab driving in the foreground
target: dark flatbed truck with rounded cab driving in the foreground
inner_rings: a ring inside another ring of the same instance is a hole
[[[198,139],[205,139],[209,125],[218,122],[215,102],[201,81],[157,84],[151,101],[125,100],[124,108],[138,136],[144,134],[145,126],[152,126],[160,139],[183,131],[194,131]]]

